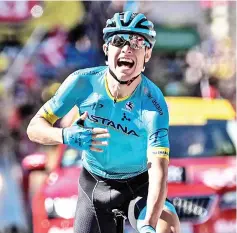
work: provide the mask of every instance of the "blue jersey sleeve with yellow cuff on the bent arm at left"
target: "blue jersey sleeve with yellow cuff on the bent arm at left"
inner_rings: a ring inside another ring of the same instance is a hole
[[[72,73],[62,83],[55,95],[42,106],[41,116],[53,125],[76,105],[85,92],[86,86],[86,80],[78,71]]]

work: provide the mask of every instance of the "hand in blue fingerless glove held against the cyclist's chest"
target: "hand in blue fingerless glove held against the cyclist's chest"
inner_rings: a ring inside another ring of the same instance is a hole
[[[84,121],[88,116],[85,112],[80,121]],[[101,138],[109,138],[110,134],[104,128],[84,128],[81,125],[72,125],[63,129],[63,144],[69,145],[79,150],[92,150],[103,152],[101,148],[94,146],[107,146],[107,141],[100,141]]]

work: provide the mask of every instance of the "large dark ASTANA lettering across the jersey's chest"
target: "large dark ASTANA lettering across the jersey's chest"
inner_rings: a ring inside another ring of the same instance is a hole
[[[123,132],[127,135],[134,135],[134,136],[139,137],[138,134],[134,130],[130,130],[130,129],[128,129],[127,126],[117,124],[110,119],[100,117],[100,116],[94,116],[94,115],[88,115],[88,119],[94,123],[102,124],[102,125],[111,127],[113,129],[119,130],[120,132]]]

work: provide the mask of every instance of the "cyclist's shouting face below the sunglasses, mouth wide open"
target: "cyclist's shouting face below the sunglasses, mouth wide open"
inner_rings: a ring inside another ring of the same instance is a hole
[[[141,36],[135,37],[133,45],[140,43],[139,38],[140,41],[144,40]],[[108,45],[104,45],[103,49],[108,55],[108,66],[117,78],[127,81],[140,74],[144,68],[144,61],[148,62],[151,57],[152,49],[145,48],[144,46],[136,49],[129,43],[125,43],[123,46],[115,45],[117,44],[110,42]]]

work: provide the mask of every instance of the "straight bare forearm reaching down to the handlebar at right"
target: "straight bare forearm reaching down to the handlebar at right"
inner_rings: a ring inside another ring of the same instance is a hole
[[[155,178],[154,178],[155,177]],[[160,171],[149,171],[149,191],[145,222],[156,228],[167,196],[166,175]]]

